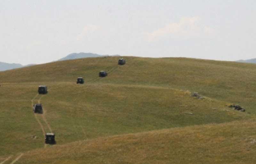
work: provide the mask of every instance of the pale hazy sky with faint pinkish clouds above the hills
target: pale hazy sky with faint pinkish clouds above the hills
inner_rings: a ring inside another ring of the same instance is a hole
[[[70,53],[256,58],[255,0],[1,0],[1,62]]]

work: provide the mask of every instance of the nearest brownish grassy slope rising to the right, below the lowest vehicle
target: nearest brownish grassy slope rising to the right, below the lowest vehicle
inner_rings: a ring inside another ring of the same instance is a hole
[[[255,119],[56,145],[20,163],[255,163]],[[42,155],[43,154],[43,155]]]

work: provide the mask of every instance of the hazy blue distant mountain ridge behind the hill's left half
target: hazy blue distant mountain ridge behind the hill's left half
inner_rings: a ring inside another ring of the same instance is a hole
[[[64,58],[59,59],[58,61],[64,61],[64,60],[71,60],[71,59],[80,59],[80,58],[91,58],[91,57],[103,57],[103,56],[109,56],[109,55],[99,55],[96,53],[71,53],[67,55]],[[120,56],[120,55],[113,55],[113,56]],[[18,63],[4,63],[0,62],[0,71],[5,71],[9,69],[15,69],[15,68],[21,68],[21,67],[27,67],[34,64],[28,64],[26,66],[23,66]]]

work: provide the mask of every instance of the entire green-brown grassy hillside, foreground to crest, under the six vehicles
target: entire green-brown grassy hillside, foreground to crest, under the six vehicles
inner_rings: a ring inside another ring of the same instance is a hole
[[[256,161],[255,64],[125,57],[120,66],[118,59],[0,72],[0,163]],[[38,95],[39,85],[48,94]],[[43,114],[32,111],[34,103]],[[46,132],[56,134],[56,145],[44,144]]]

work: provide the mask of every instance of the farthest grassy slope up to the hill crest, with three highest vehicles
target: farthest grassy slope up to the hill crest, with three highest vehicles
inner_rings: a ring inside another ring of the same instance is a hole
[[[1,72],[1,83],[74,82],[84,76],[87,82],[96,79],[99,70],[109,72],[104,83],[162,86],[197,91],[220,101],[238,103],[254,112],[256,65],[250,63],[211,61],[188,58],[126,57],[127,65],[118,67],[118,57],[85,58],[36,65]],[[255,112],[256,113],[256,112]]]

